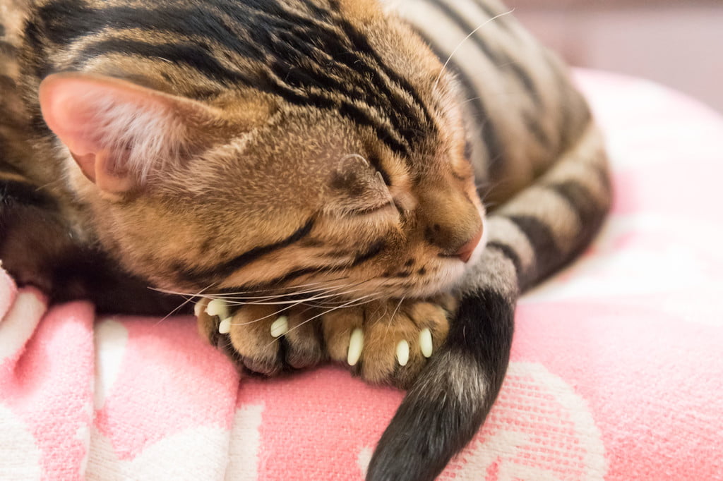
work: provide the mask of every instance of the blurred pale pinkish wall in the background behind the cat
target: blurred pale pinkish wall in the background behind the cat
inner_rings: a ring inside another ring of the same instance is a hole
[[[723,112],[723,0],[506,0],[576,66],[666,84]]]

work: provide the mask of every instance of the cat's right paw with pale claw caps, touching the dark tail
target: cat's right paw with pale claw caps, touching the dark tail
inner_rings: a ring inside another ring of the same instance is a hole
[[[442,345],[455,309],[451,296],[383,300],[322,316],[331,359],[373,384],[406,389]]]

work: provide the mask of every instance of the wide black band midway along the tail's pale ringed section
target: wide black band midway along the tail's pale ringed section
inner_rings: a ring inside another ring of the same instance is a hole
[[[524,272],[518,279],[521,290],[549,276],[568,261],[569,256],[557,247],[552,230],[544,222],[529,215],[513,215],[508,219],[522,230],[535,253],[534,272]]]

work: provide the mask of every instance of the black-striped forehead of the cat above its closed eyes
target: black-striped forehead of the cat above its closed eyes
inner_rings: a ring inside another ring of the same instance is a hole
[[[376,8],[375,8],[376,7]],[[239,16],[248,6],[234,4]],[[234,83],[296,107],[333,110],[410,155],[437,129],[429,84],[440,71],[416,38],[375,1],[258,2],[226,48],[249,62]],[[424,82],[419,82],[424,79]]]

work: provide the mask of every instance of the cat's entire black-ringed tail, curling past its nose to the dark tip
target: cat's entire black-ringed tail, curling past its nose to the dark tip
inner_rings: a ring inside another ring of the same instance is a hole
[[[578,256],[611,197],[591,124],[547,173],[487,217],[489,241],[463,280],[447,341],[382,435],[367,480],[433,480],[469,443],[502,386],[518,293]]]

